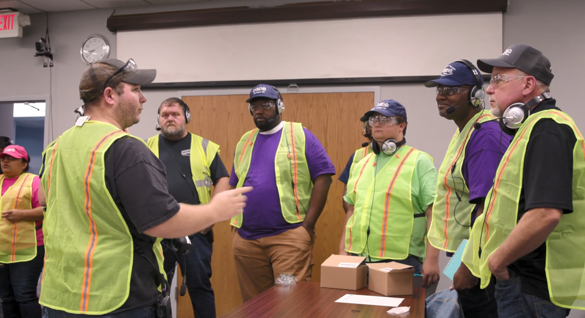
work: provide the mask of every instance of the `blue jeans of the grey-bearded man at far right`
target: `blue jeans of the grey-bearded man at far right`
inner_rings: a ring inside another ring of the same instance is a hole
[[[521,277],[510,271],[510,279],[495,282],[495,300],[500,318],[565,318],[569,309],[556,306],[546,299],[523,293]]]

